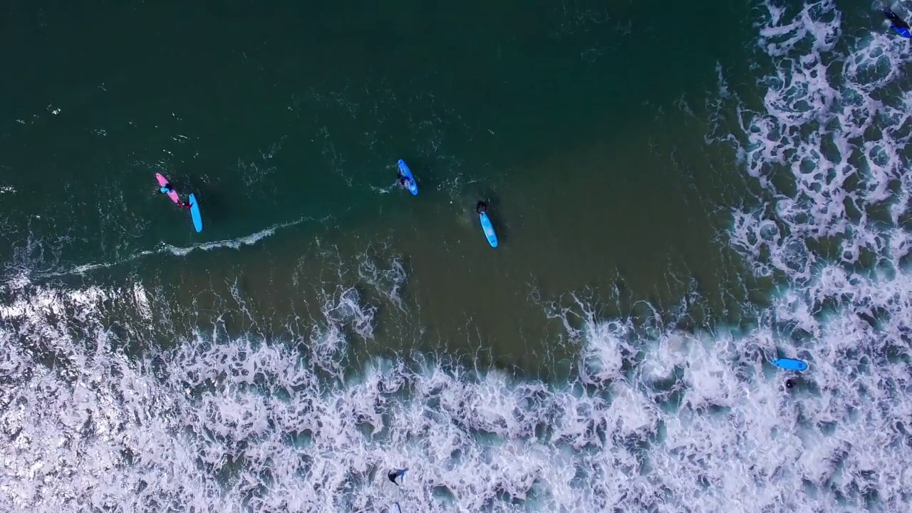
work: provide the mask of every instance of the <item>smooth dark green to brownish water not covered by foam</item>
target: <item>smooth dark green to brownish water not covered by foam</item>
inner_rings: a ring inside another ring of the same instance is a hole
[[[530,372],[573,351],[545,312],[574,293],[643,319],[700,294],[693,322],[737,324],[717,237],[744,185],[704,141],[706,102],[755,35],[747,5],[661,7],[11,4],[0,259],[34,282],[140,283],[186,330],[281,336],[355,287],[378,307],[368,352]],[[393,187],[399,158],[417,197]],[[157,172],[197,195],[202,234]]]

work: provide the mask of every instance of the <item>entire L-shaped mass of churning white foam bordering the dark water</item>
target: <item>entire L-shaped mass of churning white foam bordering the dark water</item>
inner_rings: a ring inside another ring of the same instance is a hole
[[[740,129],[708,138],[737,143],[772,202],[734,211],[729,234],[784,283],[755,330],[645,336],[584,308],[565,314],[575,382],[428,357],[344,377],[347,332],[376,322],[356,286],[327,287],[291,340],[194,333],[127,360],[95,319],[112,298],[148,310],[145,291],[20,279],[0,309],[0,508],[907,511],[912,96],[877,62],[909,50],[846,38],[829,0],[766,9],[763,110],[739,104]],[[835,257],[814,249],[825,237]],[[395,302],[401,264],[365,262],[359,286]],[[811,363],[792,391],[777,353]]]

